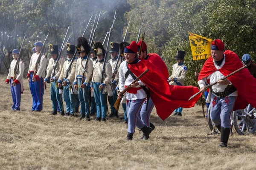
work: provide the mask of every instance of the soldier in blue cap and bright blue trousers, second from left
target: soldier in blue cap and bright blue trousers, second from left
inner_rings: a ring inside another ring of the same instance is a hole
[[[31,111],[40,112],[43,109],[43,95],[44,95],[44,72],[46,68],[47,59],[42,53],[41,59],[39,59],[39,63],[37,63],[39,53],[43,46],[42,42],[35,42],[35,51],[31,56],[30,63],[29,63],[29,72],[27,74],[27,79],[29,81],[29,88],[33,98],[33,105]],[[35,68],[37,67],[37,72],[34,75]]]

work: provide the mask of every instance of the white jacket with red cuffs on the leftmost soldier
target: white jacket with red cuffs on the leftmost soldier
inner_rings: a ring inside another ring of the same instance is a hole
[[[8,76],[6,78],[6,80],[9,82],[10,79],[12,79],[14,77],[14,68],[16,65],[17,60],[13,59],[9,68],[9,73]],[[14,82],[17,84],[20,82],[20,92],[23,93],[23,73],[24,73],[24,63],[23,61],[20,59],[20,63],[19,63],[19,72],[18,74],[16,74],[16,79],[14,80]]]

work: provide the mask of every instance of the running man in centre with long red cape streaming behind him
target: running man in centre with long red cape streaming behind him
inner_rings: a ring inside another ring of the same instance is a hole
[[[170,116],[171,113],[178,107],[190,108],[195,105],[195,103],[200,98],[201,94],[196,96],[194,99],[190,101],[188,101],[188,99],[190,96],[198,92],[197,87],[169,85],[167,81],[167,77],[164,76],[164,74],[162,73],[162,71],[159,70],[159,68],[157,68],[148,60],[138,59],[136,57],[137,54],[135,55],[133,54],[131,56],[131,53],[129,53],[130,51],[137,52],[137,44],[135,41],[132,41],[131,45],[129,45],[126,48],[127,48],[127,51],[125,51],[126,61],[121,63],[120,72],[119,72],[120,91],[124,90],[125,88],[124,86],[130,85],[129,83],[132,82],[132,79],[134,80],[136,77],[139,77],[140,74],[142,74],[145,70],[149,69],[148,73],[146,73],[143,77],[141,77],[139,82],[131,84],[132,89],[126,92],[125,94],[126,98],[128,99],[128,104],[127,104],[128,136],[130,134],[132,134],[131,136],[133,136],[135,125],[139,127],[138,122],[141,125],[144,125],[141,119],[137,117],[137,112],[139,111],[142,103],[145,101],[145,98],[146,98],[145,91],[140,87],[140,85],[146,85],[147,88],[150,90],[150,97],[157,109],[157,114],[163,120],[166,119],[168,116]],[[133,78],[133,76],[131,76],[131,73],[128,74],[128,77],[125,77],[128,70],[130,70],[130,72],[134,74],[136,77]],[[132,79],[128,81],[128,79],[131,78],[130,76],[132,77]],[[136,109],[133,109],[133,111],[129,110],[131,109],[129,105],[131,105],[133,101],[136,101],[138,99],[138,98],[135,99],[132,97],[136,95],[139,96],[140,93],[141,93],[141,97],[140,97],[141,101],[138,102],[140,105],[137,104],[136,107],[133,106],[134,108],[136,108]],[[129,97],[129,95],[131,95],[131,98]],[[118,98],[121,99],[122,96],[120,96],[119,94]],[[131,126],[133,126],[133,129],[130,128]],[[147,135],[146,137],[148,138],[149,133],[146,132],[146,135]]]

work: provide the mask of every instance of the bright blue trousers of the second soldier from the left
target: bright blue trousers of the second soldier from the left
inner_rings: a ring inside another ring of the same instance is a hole
[[[32,82],[33,74],[30,74],[29,88],[33,99],[32,111],[43,110],[44,81],[41,77],[39,81]]]

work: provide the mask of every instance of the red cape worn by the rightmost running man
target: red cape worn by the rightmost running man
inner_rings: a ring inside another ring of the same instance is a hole
[[[226,50],[225,54],[225,63],[219,71],[224,75],[227,76],[228,74],[238,70],[239,68],[243,67],[239,57],[233,51]],[[204,77],[209,76],[217,69],[214,66],[212,57],[209,57],[199,74],[198,79],[203,79]],[[238,97],[236,99],[236,103],[234,106],[234,111],[238,109],[245,108],[249,103],[256,107],[256,79],[250,74],[248,69],[244,68],[241,71],[233,74],[232,76],[228,77],[227,79],[232,82],[232,84],[238,90]]]

